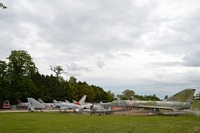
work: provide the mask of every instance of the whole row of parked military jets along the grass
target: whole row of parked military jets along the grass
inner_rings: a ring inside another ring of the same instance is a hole
[[[74,101],[70,103],[69,101],[56,101],[53,103],[44,103],[41,99],[39,101],[33,98],[27,98],[29,111],[34,111],[36,108],[44,109],[48,107],[59,108],[60,110],[73,109],[75,112],[78,111],[88,111],[90,113],[113,113],[110,110],[111,107],[117,106],[123,109],[135,108],[135,109],[147,109],[149,112],[160,114],[160,110],[168,110],[173,114],[180,113],[180,110],[190,109],[190,105],[193,103],[193,96],[195,89],[184,89],[173,96],[163,100],[163,101],[140,101],[140,100],[114,100],[108,103],[85,103],[86,95],[84,95],[78,102]]]

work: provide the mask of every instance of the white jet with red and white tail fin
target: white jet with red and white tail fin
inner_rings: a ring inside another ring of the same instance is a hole
[[[62,102],[62,101],[56,101],[53,100],[54,103],[51,105],[54,108],[59,108],[60,110],[65,110],[66,109],[74,109],[74,112],[78,112],[82,109],[84,109],[84,106],[82,106],[85,102],[86,95],[84,95],[77,103],[70,103],[70,102]]]

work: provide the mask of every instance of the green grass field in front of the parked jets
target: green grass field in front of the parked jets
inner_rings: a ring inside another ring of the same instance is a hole
[[[0,113],[0,133],[199,133],[196,116],[89,116],[59,112]]]

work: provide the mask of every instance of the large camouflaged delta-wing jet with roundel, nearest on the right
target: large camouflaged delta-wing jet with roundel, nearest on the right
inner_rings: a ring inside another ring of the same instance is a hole
[[[163,101],[115,100],[109,103],[102,103],[102,105],[121,106],[122,108],[144,108],[159,114],[161,109],[171,111],[189,109],[190,104],[193,102],[194,92],[195,89],[184,89]]]

